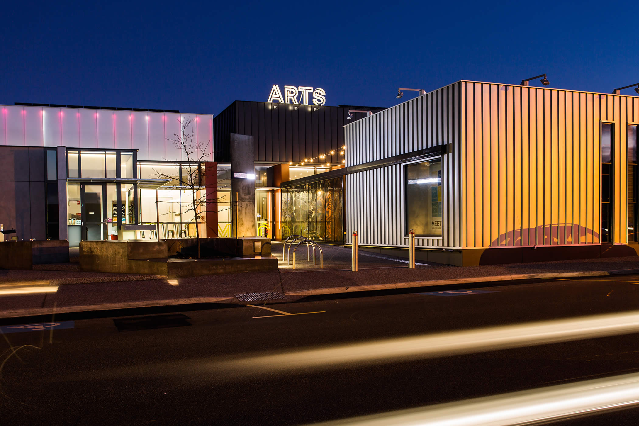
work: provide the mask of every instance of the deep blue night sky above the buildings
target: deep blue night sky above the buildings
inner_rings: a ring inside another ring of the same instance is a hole
[[[389,107],[398,86],[544,72],[550,87],[610,93],[639,82],[638,16],[637,1],[13,1],[0,103],[218,114],[290,84],[322,87],[327,105]]]

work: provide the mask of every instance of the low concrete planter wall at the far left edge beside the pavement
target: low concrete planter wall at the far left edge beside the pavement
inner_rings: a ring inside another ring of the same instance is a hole
[[[31,270],[33,265],[69,261],[66,240],[1,241],[0,268]]]

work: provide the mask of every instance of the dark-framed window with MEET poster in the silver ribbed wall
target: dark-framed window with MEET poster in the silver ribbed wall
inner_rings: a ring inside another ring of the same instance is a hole
[[[442,236],[442,159],[406,165],[406,234]]]

